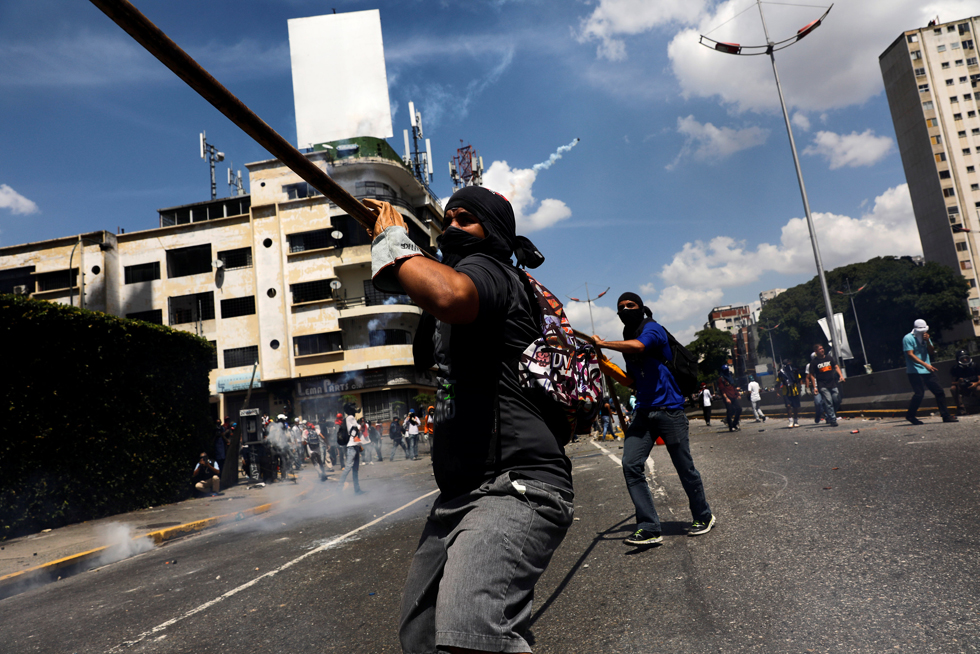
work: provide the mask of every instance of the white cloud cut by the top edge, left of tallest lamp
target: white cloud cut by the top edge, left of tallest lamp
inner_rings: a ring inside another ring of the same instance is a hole
[[[610,61],[626,58],[626,44],[619,35],[636,35],[672,22],[697,19],[704,0],[600,0],[577,34],[580,43],[599,41],[596,56]]]

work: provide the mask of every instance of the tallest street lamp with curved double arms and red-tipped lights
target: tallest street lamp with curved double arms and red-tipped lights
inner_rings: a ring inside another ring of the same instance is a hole
[[[834,5],[827,7],[827,10],[823,12],[820,18],[807,23],[798,29],[796,34],[781,41],[773,41],[771,38],[769,38],[769,28],[766,26],[766,15],[762,12],[762,0],[756,0],[756,5],[759,7],[759,17],[762,19],[762,30],[766,35],[766,45],[743,46],[739,43],[723,43],[721,41],[710,39],[705,35],[701,35],[700,43],[707,48],[712,48],[718,52],[724,52],[725,54],[741,56],[769,55],[769,59],[772,61],[772,74],[776,78],[776,91],[779,94],[779,105],[783,108],[783,119],[786,121],[786,133],[789,135],[789,147],[793,152],[793,163],[796,166],[796,179],[800,184],[800,195],[803,196],[803,211],[806,213],[806,225],[810,230],[810,244],[813,246],[813,258],[817,264],[817,275],[820,277],[820,290],[823,292],[824,310],[827,312],[827,326],[830,328],[830,333],[834,337],[831,340],[833,340],[835,343],[840,343],[841,340],[837,334],[837,325],[834,323],[834,308],[830,303],[830,291],[827,288],[827,276],[824,274],[823,260],[820,258],[820,245],[817,243],[817,232],[813,227],[813,216],[810,214],[810,200],[807,198],[806,186],[803,184],[803,171],[800,169],[800,157],[796,153],[796,141],[793,139],[793,127],[789,121],[789,112],[786,110],[786,101],[783,99],[783,87],[779,83],[779,71],[776,69],[776,56],[774,54],[777,50],[783,50],[795,43],[799,43],[803,37],[809,35],[812,31],[820,27],[820,25],[823,24],[824,19],[827,17],[827,14],[829,14],[830,10],[834,8]],[[839,365],[840,362],[838,361],[836,350],[831,350],[831,357],[834,364]]]

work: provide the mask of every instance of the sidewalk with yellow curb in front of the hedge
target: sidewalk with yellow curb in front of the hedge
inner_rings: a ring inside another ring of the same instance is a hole
[[[265,513],[324,484],[333,487],[338,477],[339,470],[321,482],[312,466],[305,465],[296,483],[280,481],[249,490],[247,479],[240,478],[218,497],[191,498],[0,542],[0,599],[180,536]]]

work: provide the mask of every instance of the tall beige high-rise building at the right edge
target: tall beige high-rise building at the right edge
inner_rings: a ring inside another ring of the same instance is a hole
[[[879,56],[885,93],[927,261],[970,284],[970,324],[980,335],[980,16],[932,21],[901,34]]]

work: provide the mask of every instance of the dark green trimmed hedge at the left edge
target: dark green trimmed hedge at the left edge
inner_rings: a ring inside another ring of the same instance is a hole
[[[213,436],[204,339],[0,294],[0,540],[174,502]]]

